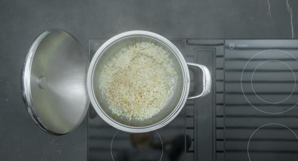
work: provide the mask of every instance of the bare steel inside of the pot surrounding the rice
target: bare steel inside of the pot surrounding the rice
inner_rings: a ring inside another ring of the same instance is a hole
[[[177,72],[177,75],[178,75],[178,83],[177,83],[176,89],[171,93],[170,99],[168,100],[166,106],[163,107],[157,114],[145,120],[137,120],[134,118],[129,120],[125,116],[122,116],[122,115],[118,116],[112,113],[112,110],[109,108],[108,101],[105,99],[105,97],[103,97],[102,92],[99,89],[98,81],[99,81],[100,73],[103,69],[103,65],[106,65],[111,60],[111,58],[113,58],[115,54],[117,54],[122,48],[134,46],[138,42],[151,42],[154,45],[163,48],[165,51],[169,53],[170,59],[172,59],[172,62],[174,63],[175,71]],[[97,51],[97,52],[101,52],[101,51]],[[184,88],[187,87],[185,85],[186,82],[184,79],[186,74],[188,73],[183,72],[182,62],[178,58],[177,54],[175,54],[167,45],[165,45],[161,41],[148,36],[128,36],[128,37],[119,39],[104,49],[104,51],[100,54],[100,56],[97,57],[97,61],[95,63],[95,66],[93,67],[92,93],[93,93],[93,96],[95,97],[95,101],[97,104],[97,107],[95,108],[99,108],[101,111],[103,111],[103,113],[108,118],[110,118],[111,121],[114,121],[122,126],[124,125],[127,127],[133,127],[133,128],[144,128],[144,127],[153,126],[171,117],[175,112],[177,112],[177,110],[181,106],[180,104],[182,100],[186,99],[185,96],[183,96]]]

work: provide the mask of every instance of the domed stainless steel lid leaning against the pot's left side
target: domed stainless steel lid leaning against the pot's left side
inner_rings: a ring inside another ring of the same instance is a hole
[[[34,41],[24,63],[22,92],[44,131],[63,135],[81,123],[89,106],[88,65],[79,42],[63,30],[45,31]]]

